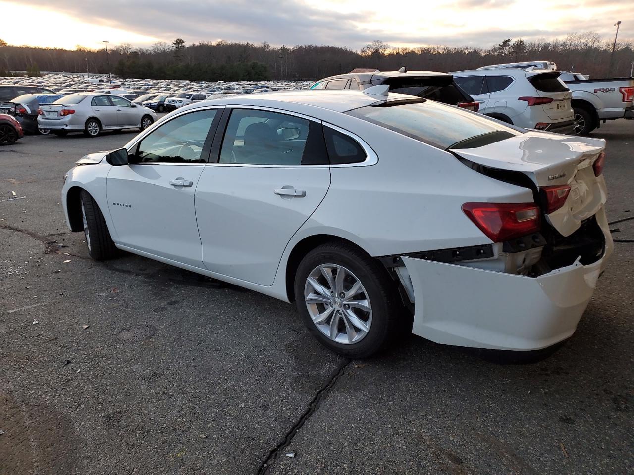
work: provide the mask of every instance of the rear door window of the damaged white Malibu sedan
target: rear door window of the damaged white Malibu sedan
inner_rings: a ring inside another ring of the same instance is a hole
[[[220,163],[325,165],[328,156],[321,124],[276,112],[233,110]]]

